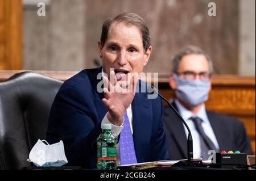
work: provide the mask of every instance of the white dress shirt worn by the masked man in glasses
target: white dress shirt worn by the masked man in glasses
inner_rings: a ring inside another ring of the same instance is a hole
[[[191,134],[193,137],[193,158],[199,158],[201,157],[201,147],[200,147],[200,135],[196,130],[196,127],[193,123],[193,121],[189,118],[191,117],[200,117],[202,121],[202,127],[204,129],[205,134],[210,138],[210,140],[212,140],[213,144],[216,146],[217,149],[220,149],[220,147],[218,146],[218,142],[216,139],[216,136],[213,132],[212,126],[210,125],[210,121],[207,117],[207,113],[205,110],[205,105],[203,104],[203,106],[201,106],[199,112],[197,112],[196,115],[194,115],[191,111],[188,111],[184,106],[182,106],[179,101],[177,99],[174,100],[175,104],[179,110],[180,115],[183,117],[183,119],[186,121],[186,123],[188,124],[189,129],[191,130]],[[184,126],[184,130],[186,133],[186,136],[188,137],[188,131],[187,128],[185,128]]]

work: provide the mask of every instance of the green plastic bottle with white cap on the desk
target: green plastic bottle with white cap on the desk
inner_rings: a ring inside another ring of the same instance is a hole
[[[114,170],[117,169],[117,138],[111,132],[111,124],[101,125],[102,133],[97,138],[98,170]]]

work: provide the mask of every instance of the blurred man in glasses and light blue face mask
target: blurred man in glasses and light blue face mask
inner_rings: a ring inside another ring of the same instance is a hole
[[[207,54],[189,45],[177,53],[172,66],[170,86],[176,96],[170,102],[191,129],[193,157],[207,159],[208,150],[239,150],[251,154],[250,140],[241,121],[205,110],[213,72]],[[187,158],[188,132],[170,107],[164,108],[164,129],[170,159]]]

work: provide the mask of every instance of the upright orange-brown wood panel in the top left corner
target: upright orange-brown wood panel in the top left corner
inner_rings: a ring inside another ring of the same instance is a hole
[[[0,70],[22,68],[22,2],[0,1]]]

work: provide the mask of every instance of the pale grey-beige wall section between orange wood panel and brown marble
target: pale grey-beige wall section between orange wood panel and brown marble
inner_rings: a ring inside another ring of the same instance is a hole
[[[23,7],[23,68],[81,70],[85,66],[86,15],[83,0],[53,0],[46,16]]]

